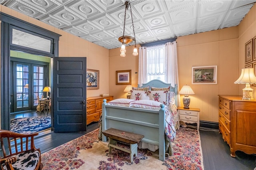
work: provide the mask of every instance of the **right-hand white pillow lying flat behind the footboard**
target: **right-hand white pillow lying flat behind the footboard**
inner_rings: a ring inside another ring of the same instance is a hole
[[[138,100],[130,103],[130,107],[138,107],[143,109],[160,110],[162,103],[153,100]],[[167,107],[167,106],[165,106]]]

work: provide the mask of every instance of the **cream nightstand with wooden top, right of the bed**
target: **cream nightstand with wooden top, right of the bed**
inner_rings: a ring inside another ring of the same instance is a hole
[[[180,119],[178,121],[178,128],[180,128],[180,121],[184,123],[197,123],[197,131],[199,132],[199,112],[200,109],[198,108],[189,108],[184,109],[183,107],[178,107],[178,113]]]

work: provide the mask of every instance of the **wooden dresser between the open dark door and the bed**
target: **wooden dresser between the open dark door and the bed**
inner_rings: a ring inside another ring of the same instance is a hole
[[[86,99],[86,125],[92,122],[98,122],[100,119],[100,115],[102,113],[102,103],[103,99],[112,101],[114,99],[113,96],[95,96],[95,97],[88,97]]]

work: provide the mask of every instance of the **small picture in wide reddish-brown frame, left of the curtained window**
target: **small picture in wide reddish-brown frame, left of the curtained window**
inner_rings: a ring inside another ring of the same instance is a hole
[[[132,70],[116,71],[116,85],[131,85],[131,71]]]

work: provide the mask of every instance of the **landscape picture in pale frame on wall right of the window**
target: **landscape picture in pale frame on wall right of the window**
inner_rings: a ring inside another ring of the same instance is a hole
[[[217,65],[192,67],[192,84],[217,84]]]

